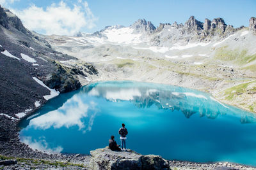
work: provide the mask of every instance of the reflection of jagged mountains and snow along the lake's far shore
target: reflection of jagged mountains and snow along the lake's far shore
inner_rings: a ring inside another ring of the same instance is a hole
[[[120,82],[122,83],[122,82]],[[89,96],[104,97],[108,101],[131,101],[138,108],[150,108],[153,104],[159,109],[180,110],[186,118],[198,113],[200,117],[217,118],[218,115],[234,115],[241,117],[241,123],[256,121],[256,116],[248,111],[236,110],[225,106],[209,94],[196,90],[185,89],[170,85],[150,84],[146,87],[138,83],[138,87],[129,87],[132,82],[126,81],[128,85],[118,87],[111,82],[109,85],[95,83],[83,88],[83,92]],[[152,85],[154,88],[150,87]],[[158,87],[158,88],[157,88]],[[188,92],[190,91],[190,92]]]

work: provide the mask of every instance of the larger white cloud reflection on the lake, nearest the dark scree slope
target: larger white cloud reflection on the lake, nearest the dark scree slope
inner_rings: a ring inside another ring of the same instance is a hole
[[[71,99],[68,99],[66,103],[63,104],[58,110],[50,111],[45,115],[40,117],[33,118],[29,125],[38,128],[38,129],[49,129],[54,127],[55,129],[61,127],[72,127],[77,126],[79,130],[83,129],[83,132],[91,131],[94,117],[97,113],[95,109],[97,104],[93,101],[90,102],[90,111],[88,113],[88,104],[83,102],[81,96],[73,96]],[[83,118],[89,117],[88,124],[83,122]],[[86,127],[87,125],[87,127]]]

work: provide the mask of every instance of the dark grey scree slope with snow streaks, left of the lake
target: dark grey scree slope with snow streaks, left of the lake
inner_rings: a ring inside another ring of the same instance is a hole
[[[93,74],[90,70],[96,71],[86,62],[79,67],[61,64],[77,59],[53,50],[45,39],[26,29],[17,16],[1,6],[0,36],[0,113],[5,115],[20,118],[54,94],[78,89],[79,76],[87,77]]]

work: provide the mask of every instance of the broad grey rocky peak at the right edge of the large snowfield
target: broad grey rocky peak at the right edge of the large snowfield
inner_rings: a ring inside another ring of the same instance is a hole
[[[135,29],[136,32],[151,33],[156,30],[156,27],[150,21],[147,22],[145,19],[139,19],[138,21],[134,22],[131,27]]]

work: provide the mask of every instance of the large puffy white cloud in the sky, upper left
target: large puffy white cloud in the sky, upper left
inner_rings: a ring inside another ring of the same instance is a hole
[[[29,30],[47,35],[72,36],[85,27],[92,29],[95,27],[95,21],[97,20],[88,3],[82,0],[78,0],[73,8],[60,1],[60,3],[53,3],[45,9],[31,4],[24,10],[12,11]]]

